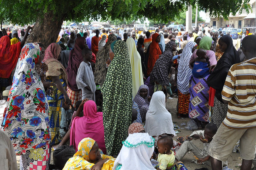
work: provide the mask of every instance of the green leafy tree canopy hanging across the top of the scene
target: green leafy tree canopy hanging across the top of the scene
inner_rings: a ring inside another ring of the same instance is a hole
[[[164,22],[179,17],[189,4],[198,4],[199,10],[211,16],[228,17],[230,13],[249,12],[249,0],[0,0],[1,15],[14,24],[28,24],[42,19],[51,11],[56,20],[137,20],[146,17]],[[1,18],[0,18],[1,20]]]

